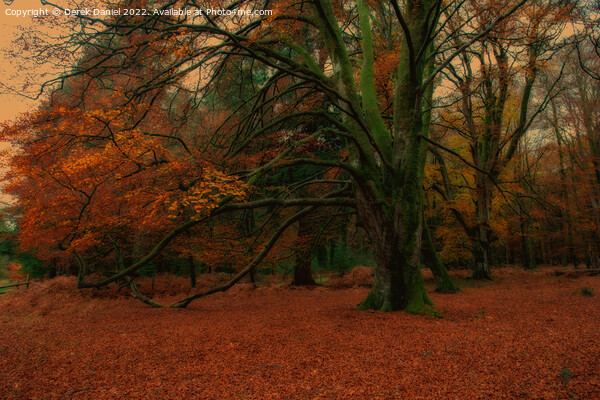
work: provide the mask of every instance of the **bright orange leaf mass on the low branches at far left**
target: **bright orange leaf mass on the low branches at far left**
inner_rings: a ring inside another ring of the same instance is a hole
[[[22,247],[49,256],[130,243],[244,197],[244,184],[206,155],[155,134],[164,127],[127,121],[129,107],[54,106],[4,127],[13,144],[5,191],[19,199]]]

